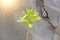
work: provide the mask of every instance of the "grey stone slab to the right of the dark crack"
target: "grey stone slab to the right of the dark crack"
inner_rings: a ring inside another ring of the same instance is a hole
[[[50,22],[53,24],[55,29],[54,40],[60,40],[60,0],[45,0],[46,9],[48,11],[48,16]]]

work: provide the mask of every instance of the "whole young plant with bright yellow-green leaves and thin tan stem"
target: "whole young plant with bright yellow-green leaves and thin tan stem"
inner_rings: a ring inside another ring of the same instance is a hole
[[[41,20],[39,13],[35,11],[33,8],[26,8],[26,12],[22,11],[23,16],[20,17],[17,22],[22,22],[24,26],[28,26],[28,31],[26,33],[26,40],[28,40],[29,31],[33,27],[32,23],[38,20]]]

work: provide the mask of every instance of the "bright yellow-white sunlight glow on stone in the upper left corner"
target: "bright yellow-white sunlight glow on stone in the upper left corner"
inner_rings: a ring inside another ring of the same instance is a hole
[[[0,0],[0,12],[12,13],[23,8],[25,1],[22,0]]]

